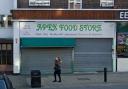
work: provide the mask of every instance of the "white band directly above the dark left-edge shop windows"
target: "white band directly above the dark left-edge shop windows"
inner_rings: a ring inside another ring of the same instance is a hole
[[[13,38],[13,28],[0,28],[0,38]]]

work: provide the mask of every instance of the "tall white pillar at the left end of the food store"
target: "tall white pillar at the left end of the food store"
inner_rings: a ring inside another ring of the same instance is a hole
[[[13,73],[20,73],[20,36],[19,22],[13,22]]]

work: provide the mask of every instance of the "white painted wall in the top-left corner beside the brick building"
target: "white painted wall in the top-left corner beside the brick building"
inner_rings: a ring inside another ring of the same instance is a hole
[[[0,14],[9,15],[13,3],[13,0],[0,0]]]

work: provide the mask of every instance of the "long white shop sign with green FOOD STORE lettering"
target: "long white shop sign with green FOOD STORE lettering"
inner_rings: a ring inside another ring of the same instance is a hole
[[[115,24],[105,22],[20,22],[20,37],[112,38]]]

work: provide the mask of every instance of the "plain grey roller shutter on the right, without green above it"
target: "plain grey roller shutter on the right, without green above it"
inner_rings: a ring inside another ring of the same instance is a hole
[[[112,71],[112,39],[77,39],[74,53],[75,72]]]

